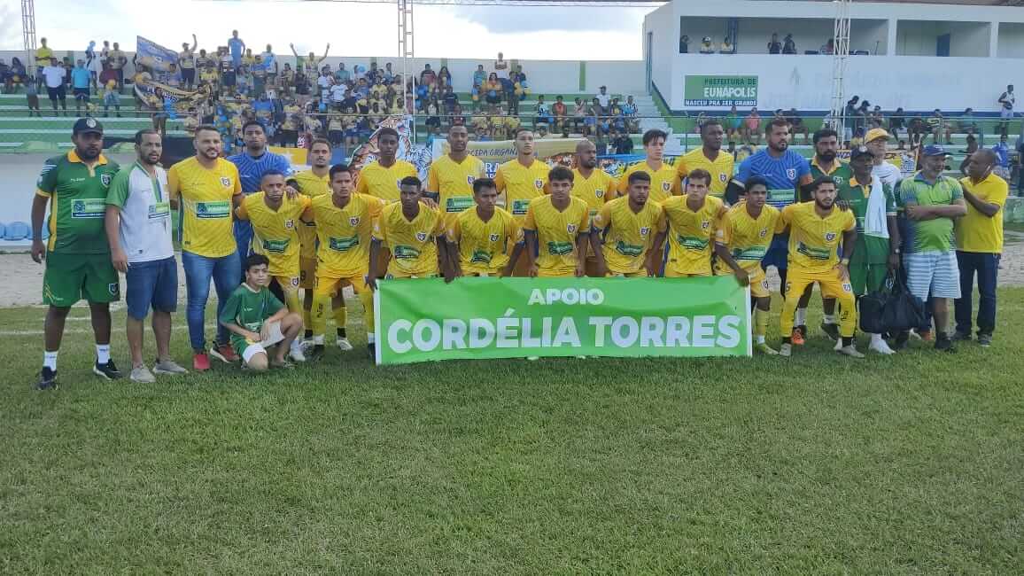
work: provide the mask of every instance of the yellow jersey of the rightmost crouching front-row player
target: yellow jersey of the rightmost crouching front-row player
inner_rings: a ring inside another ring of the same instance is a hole
[[[821,217],[814,202],[791,204],[782,209],[777,231],[790,227],[790,270],[827,272],[839,263],[843,233],[857,228],[853,210],[833,208]]]

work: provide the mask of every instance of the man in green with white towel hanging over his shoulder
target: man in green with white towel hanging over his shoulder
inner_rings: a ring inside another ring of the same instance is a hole
[[[849,265],[850,286],[857,297],[881,290],[889,271],[899,269],[896,199],[892,189],[872,173],[873,166],[871,151],[863,146],[855,148],[850,154],[852,176],[838,184],[839,200],[846,202],[857,218],[857,245]],[[893,354],[882,334],[870,338],[868,349]]]

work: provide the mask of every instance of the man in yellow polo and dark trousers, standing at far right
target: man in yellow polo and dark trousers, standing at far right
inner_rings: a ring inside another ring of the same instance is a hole
[[[978,276],[978,343],[988,346],[995,330],[995,281],[1002,253],[1002,207],[1010,186],[995,175],[998,158],[991,150],[971,155],[961,179],[967,215],[956,220],[956,263],[961,297],[956,298],[954,339],[971,339],[971,293]]]

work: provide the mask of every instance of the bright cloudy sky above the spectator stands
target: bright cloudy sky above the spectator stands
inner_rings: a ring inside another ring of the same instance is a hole
[[[417,57],[640,59],[641,29],[653,6],[508,7],[416,6]],[[20,0],[0,0],[0,49],[23,48]],[[36,34],[57,50],[84,50],[90,40],[135,36],[179,49],[195,33],[201,48],[224,45],[232,29],[248,46],[270,43],[275,53],[294,43],[300,54],[395,56],[394,4],[331,2],[36,0]],[[366,23],[376,23],[367,26]],[[351,26],[346,26],[351,24]],[[255,51],[255,50],[254,50]]]

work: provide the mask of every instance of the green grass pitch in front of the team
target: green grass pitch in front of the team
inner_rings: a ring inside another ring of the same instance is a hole
[[[357,327],[295,372],[153,385],[93,379],[76,308],[51,393],[43,311],[0,311],[0,572],[1019,574],[1024,289],[999,298],[954,355],[375,368]]]

